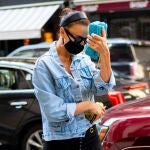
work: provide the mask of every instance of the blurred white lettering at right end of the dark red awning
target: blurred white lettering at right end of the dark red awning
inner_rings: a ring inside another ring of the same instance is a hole
[[[148,7],[149,1],[145,0],[145,1],[134,1],[134,2],[130,2],[130,8],[145,8]]]

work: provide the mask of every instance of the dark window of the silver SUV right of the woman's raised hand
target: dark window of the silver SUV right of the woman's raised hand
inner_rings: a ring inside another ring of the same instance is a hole
[[[131,47],[127,44],[108,44],[112,62],[133,61]]]

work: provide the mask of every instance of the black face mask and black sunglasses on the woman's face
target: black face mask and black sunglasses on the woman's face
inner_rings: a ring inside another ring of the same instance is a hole
[[[67,35],[68,35],[68,38],[69,38],[69,42],[65,43],[64,44],[64,47],[66,48],[66,50],[71,53],[71,54],[78,54],[80,52],[83,51],[84,49],[84,44],[86,43],[86,38],[83,38],[83,37],[74,37],[69,31],[67,31],[65,29]],[[74,39],[74,41],[72,41],[70,39],[70,36]],[[81,44],[82,42],[84,42],[84,44]]]

